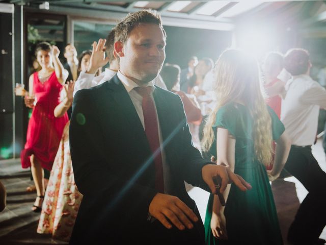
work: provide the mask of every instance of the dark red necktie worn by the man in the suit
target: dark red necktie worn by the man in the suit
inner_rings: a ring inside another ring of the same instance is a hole
[[[151,97],[152,89],[151,87],[136,87],[135,90],[143,97],[142,108],[145,133],[153,153],[155,164],[155,188],[158,192],[164,193],[162,156],[158,138],[158,121],[155,105]]]

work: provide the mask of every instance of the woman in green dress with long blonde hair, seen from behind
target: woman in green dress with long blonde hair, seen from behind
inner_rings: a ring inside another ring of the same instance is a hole
[[[207,244],[283,244],[269,181],[278,178],[290,149],[284,126],[265,105],[254,58],[239,50],[225,51],[216,62],[217,103],[204,128],[203,149],[217,156],[252,185],[241,192],[229,185],[226,206],[210,195],[205,231]],[[274,166],[266,171],[277,142]]]

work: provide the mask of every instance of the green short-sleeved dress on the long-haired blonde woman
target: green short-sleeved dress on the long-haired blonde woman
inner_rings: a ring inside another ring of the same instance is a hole
[[[275,112],[267,108],[273,139],[277,140],[284,132],[284,126]],[[236,139],[234,173],[251,183],[253,188],[241,191],[231,186],[224,211],[228,240],[215,239],[211,232],[213,195],[210,195],[205,218],[206,244],[283,244],[266,168],[255,155],[253,127],[254,121],[248,108],[241,104],[229,103],[221,107],[216,115],[215,135],[217,128],[225,128]],[[210,154],[216,156],[216,140]]]

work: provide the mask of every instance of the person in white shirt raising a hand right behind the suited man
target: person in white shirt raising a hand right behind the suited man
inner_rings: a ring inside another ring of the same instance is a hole
[[[119,61],[117,54],[114,51],[115,29],[107,35],[106,40],[100,38],[98,43],[93,43],[92,56],[90,58],[89,69],[86,72],[80,72],[79,77],[75,83],[73,94],[83,88],[91,88],[100,85],[112,79],[119,70]],[[106,51],[106,52],[105,52]],[[104,55],[106,53],[106,57]],[[109,67],[95,77],[96,71],[109,63]],[[167,89],[164,81],[160,76],[155,78],[154,84],[160,88]]]

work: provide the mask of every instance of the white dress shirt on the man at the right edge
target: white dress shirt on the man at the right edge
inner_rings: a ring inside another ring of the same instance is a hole
[[[326,108],[326,90],[308,75],[292,77],[285,90],[281,121],[292,144],[311,145],[317,133],[319,108]]]

